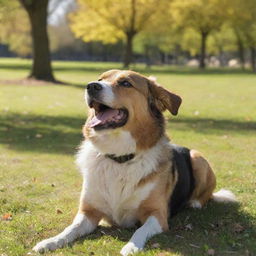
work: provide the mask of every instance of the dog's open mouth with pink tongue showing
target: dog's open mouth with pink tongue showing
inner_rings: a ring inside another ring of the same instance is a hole
[[[127,109],[110,108],[96,101],[90,102],[89,106],[95,110],[95,116],[88,122],[90,128],[114,129],[124,126],[128,120]]]

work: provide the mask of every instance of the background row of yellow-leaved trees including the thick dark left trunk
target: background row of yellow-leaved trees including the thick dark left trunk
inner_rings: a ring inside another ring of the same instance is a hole
[[[49,13],[60,18],[55,10],[65,22],[47,24]],[[122,60],[125,67],[197,59],[204,68],[211,57],[222,66],[237,59],[256,72],[255,0],[0,0],[0,21],[0,54],[32,56],[36,79],[54,80],[50,51],[53,58]]]

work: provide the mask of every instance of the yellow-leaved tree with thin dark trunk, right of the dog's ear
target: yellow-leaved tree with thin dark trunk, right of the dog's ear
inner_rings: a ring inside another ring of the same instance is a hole
[[[175,22],[181,28],[191,28],[200,35],[200,68],[205,68],[208,36],[222,25],[221,1],[175,0],[171,5]]]

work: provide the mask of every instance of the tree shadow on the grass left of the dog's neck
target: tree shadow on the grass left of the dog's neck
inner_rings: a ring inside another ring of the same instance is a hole
[[[19,151],[74,154],[85,118],[69,116],[0,116],[0,143]]]

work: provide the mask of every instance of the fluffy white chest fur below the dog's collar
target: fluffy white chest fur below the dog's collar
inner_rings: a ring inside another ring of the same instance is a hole
[[[119,164],[99,154],[90,141],[84,142],[77,157],[84,178],[82,198],[118,225],[133,225],[136,210],[155,186],[138,183],[156,169],[160,154],[161,147],[156,145]]]

